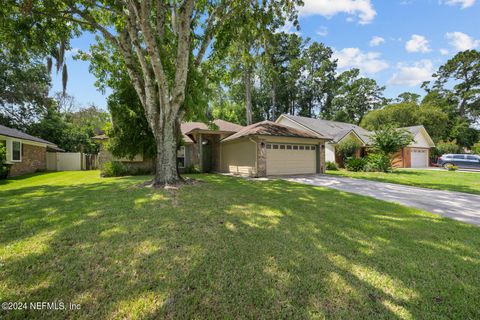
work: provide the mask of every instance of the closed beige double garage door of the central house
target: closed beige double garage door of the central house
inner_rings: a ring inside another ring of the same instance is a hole
[[[314,145],[267,144],[267,175],[316,173],[315,148]]]

